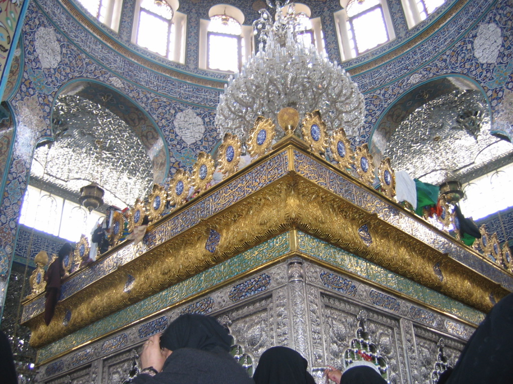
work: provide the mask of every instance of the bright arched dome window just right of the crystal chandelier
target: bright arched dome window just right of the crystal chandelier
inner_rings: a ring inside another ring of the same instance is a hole
[[[342,59],[361,55],[396,37],[386,0],[343,2],[345,7],[335,14]]]

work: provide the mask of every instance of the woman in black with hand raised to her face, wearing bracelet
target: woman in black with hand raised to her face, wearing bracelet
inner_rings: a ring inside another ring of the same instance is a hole
[[[159,343],[160,341],[160,343]],[[228,353],[233,338],[213,317],[185,314],[144,343],[133,384],[253,384]]]

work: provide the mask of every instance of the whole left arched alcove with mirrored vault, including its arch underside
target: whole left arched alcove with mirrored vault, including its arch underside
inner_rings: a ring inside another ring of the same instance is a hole
[[[154,121],[126,96],[94,81],[66,84],[52,107],[53,137],[34,151],[31,184],[70,198],[91,182],[105,203],[132,205],[163,183],[169,155]]]

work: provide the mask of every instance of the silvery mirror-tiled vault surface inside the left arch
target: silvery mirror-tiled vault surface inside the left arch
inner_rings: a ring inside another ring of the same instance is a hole
[[[105,190],[104,207],[124,208],[150,194],[152,162],[119,116],[84,97],[63,95],[56,101],[53,125],[55,141],[34,152],[31,184],[78,200],[80,188],[96,182]]]

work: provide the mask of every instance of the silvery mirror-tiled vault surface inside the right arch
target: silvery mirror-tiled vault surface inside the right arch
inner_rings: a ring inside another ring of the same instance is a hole
[[[513,162],[513,145],[490,134],[482,93],[458,90],[408,114],[389,135],[383,157],[427,183],[463,183]]]

